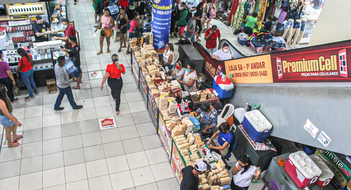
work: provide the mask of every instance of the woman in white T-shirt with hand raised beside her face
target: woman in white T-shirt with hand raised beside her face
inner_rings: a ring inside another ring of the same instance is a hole
[[[251,183],[252,176],[259,180],[261,177],[260,167],[252,164],[249,155],[241,155],[238,158],[236,167],[232,170],[232,181],[230,188],[232,190],[248,190]]]

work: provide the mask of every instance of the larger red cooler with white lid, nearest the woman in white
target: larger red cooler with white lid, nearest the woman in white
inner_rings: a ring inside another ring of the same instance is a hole
[[[303,151],[289,155],[285,163],[285,171],[301,189],[316,183],[322,174],[322,170]]]

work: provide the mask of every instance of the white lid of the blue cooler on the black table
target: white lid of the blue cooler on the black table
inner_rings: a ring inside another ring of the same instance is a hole
[[[258,132],[263,132],[273,127],[259,110],[247,111],[245,117]]]

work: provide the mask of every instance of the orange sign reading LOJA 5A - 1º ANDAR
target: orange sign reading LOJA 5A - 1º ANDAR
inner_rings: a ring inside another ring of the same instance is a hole
[[[225,70],[233,83],[273,83],[270,55],[225,61]]]

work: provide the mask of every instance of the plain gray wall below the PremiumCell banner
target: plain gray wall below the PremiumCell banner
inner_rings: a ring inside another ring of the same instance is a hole
[[[351,83],[237,84],[228,103],[259,103],[272,136],[325,149],[317,140],[323,130],[332,138],[327,150],[351,155],[350,96]],[[319,129],[316,138],[303,128],[307,119]]]

